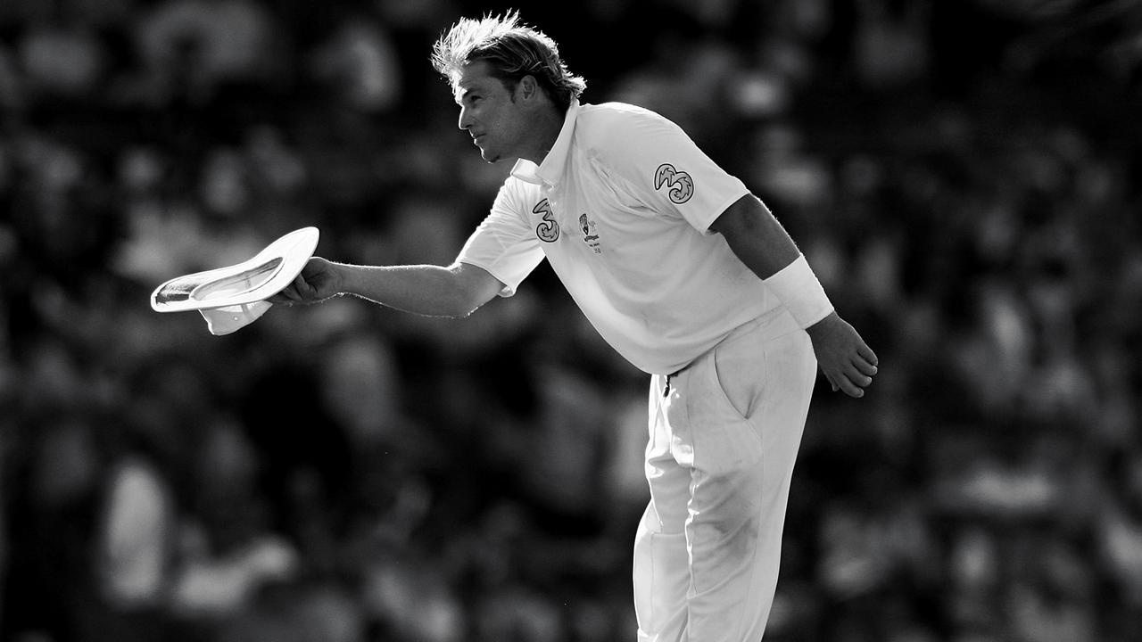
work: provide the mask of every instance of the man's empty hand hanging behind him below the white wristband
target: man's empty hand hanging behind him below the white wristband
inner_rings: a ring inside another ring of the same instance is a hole
[[[872,383],[877,359],[856,330],[836,312],[810,326],[806,331],[813,342],[817,362],[833,391],[849,396],[864,396],[864,387]]]

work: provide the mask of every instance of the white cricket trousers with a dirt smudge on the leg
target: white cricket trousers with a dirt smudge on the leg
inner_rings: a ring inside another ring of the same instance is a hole
[[[758,642],[817,379],[809,335],[746,323],[650,390],[638,642]]]

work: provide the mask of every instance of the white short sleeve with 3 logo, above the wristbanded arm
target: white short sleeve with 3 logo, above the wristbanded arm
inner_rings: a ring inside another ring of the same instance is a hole
[[[590,142],[595,162],[619,176],[654,211],[684,218],[700,232],[749,193],[674,122],[648,110],[627,110]]]

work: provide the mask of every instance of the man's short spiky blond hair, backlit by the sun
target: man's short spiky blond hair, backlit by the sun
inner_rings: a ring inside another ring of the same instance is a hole
[[[587,88],[582,77],[568,71],[554,40],[520,22],[520,11],[483,18],[461,18],[433,45],[432,64],[451,82],[459,81],[464,66],[485,61],[491,75],[514,89],[521,78],[531,75],[560,111],[565,111]]]

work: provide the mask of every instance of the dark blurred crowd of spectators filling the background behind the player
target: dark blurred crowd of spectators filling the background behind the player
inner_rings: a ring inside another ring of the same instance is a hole
[[[520,2],[687,129],[880,359],[819,385],[766,640],[1142,631],[1142,7]],[[468,319],[226,337],[155,286],[321,230],[451,262],[507,167],[461,0],[0,2],[0,639],[634,639],[646,377],[541,265]]]

